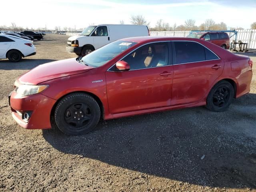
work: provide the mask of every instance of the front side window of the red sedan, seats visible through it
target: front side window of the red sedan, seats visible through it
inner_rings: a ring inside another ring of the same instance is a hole
[[[144,45],[126,56],[123,61],[130,70],[168,65],[168,44],[166,42]]]

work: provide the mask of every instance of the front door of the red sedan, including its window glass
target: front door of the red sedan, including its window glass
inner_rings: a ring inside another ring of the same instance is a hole
[[[106,89],[111,114],[170,106],[173,66],[168,42],[141,46],[122,60],[128,71],[112,66],[106,71]]]

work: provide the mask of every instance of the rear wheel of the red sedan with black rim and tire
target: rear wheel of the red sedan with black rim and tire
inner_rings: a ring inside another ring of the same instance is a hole
[[[206,108],[221,112],[226,110],[234,98],[234,88],[225,80],[216,83],[210,90],[206,99]]]

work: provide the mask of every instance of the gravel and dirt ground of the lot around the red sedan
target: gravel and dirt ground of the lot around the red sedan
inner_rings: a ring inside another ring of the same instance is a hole
[[[47,34],[37,54],[0,60],[0,191],[253,191],[256,73],[226,112],[204,107],[101,121],[84,136],[25,130],[8,94],[29,69],[75,57],[68,36]],[[251,53],[256,66],[256,54]],[[205,158],[201,160],[201,157]]]

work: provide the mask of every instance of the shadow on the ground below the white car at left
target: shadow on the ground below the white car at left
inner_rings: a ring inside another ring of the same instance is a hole
[[[26,59],[22,58],[20,62],[10,62],[9,60],[0,60],[0,70],[30,70],[40,64],[56,61],[54,59]]]

